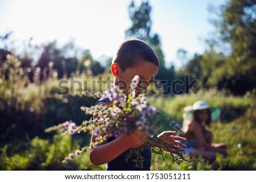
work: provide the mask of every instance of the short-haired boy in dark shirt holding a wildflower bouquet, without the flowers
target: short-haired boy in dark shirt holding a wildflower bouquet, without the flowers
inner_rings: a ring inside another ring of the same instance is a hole
[[[154,80],[158,73],[159,60],[154,50],[138,39],[127,40],[123,42],[112,60],[111,72],[114,76],[114,84],[119,86],[125,94],[128,94],[129,83],[135,75],[139,75],[147,85]],[[108,104],[109,100],[102,98],[97,104]],[[139,147],[146,142],[148,134],[141,130],[139,134],[121,134],[118,138],[108,138],[105,143],[90,148],[90,161],[95,165],[106,163],[106,170],[141,170],[134,166],[133,159],[125,161],[125,155],[129,149]],[[178,145],[177,141],[186,141],[183,137],[173,136],[175,132],[167,131],[158,135],[166,142]],[[92,135],[91,141],[95,141]],[[179,143],[182,147],[186,147]],[[150,170],[151,152],[143,150],[141,155],[144,157],[143,169]]]

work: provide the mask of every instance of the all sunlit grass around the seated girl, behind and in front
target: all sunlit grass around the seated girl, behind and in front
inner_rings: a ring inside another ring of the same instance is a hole
[[[256,170],[256,108],[255,90],[245,96],[225,95],[216,90],[199,91],[198,95],[183,95],[175,97],[152,96],[150,103],[161,109],[171,120],[182,124],[184,107],[192,105],[197,100],[205,100],[209,105],[221,109],[218,122],[211,124],[213,142],[224,142],[228,145],[228,156],[223,158],[217,154],[217,166],[207,163],[172,163],[163,160],[162,156],[152,156],[151,170]],[[162,125],[162,126],[161,126]],[[159,124],[162,130],[171,129],[168,123]],[[164,158],[169,159],[168,153]]]

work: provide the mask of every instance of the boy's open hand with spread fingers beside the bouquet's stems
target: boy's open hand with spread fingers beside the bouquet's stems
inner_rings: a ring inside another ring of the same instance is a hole
[[[171,143],[172,145],[176,146],[177,149],[182,151],[182,148],[187,148],[187,145],[180,143],[181,142],[185,142],[187,141],[186,138],[183,137],[179,137],[179,136],[174,136],[174,134],[176,134],[176,132],[173,131],[166,131],[166,132],[162,132],[158,135],[158,138],[162,139],[164,142],[166,143]],[[171,150],[172,153],[176,153],[175,150]]]

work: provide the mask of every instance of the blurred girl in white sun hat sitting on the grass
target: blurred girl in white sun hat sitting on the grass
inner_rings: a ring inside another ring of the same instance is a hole
[[[204,100],[196,101],[193,106],[184,108],[184,121],[181,137],[187,138],[187,149],[184,153],[189,156],[202,156],[213,163],[216,160],[216,153],[227,155],[225,143],[213,143],[213,135],[207,127],[210,122],[217,120],[220,116],[220,109],[209,107]]]

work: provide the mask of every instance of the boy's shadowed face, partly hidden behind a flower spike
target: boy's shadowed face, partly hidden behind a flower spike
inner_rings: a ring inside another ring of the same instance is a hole
[[[150,82],[154,81],[155,75],[158,73],[158,66],[151,62],[140,60],[139,64],[134,67],[127,67],[125,71],[118,69],[118,78],[116,84],[119,88],[127,93],[130,82],[135,75],[139,75],[142,80],[142,87],[146,89]]]

